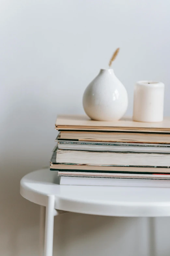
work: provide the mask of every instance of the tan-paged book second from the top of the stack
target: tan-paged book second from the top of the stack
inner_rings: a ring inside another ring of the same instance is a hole
[[[170,133],[61,131],[58,140],[170,144]]]

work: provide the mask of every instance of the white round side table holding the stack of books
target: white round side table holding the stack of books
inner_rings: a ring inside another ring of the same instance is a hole
[[[37,170],[21,179],[21,196],[39,204],[40,255],[52,256],[54,216],[170,216],[170,188],[59,185],[57,171]]]

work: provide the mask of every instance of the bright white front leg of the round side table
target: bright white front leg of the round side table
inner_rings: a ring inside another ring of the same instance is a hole
[[[44,256],[52,256],[54,215],[55,215],[54,203],[55,203],[55,196],[53,195],[48,196],[48,203],[46,207]]]

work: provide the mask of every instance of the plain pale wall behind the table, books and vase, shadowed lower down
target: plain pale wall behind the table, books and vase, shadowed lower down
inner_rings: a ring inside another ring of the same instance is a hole
[[[20,179],[49,165],[56,115],[84,113],[82,94],[117,47],[127,114],[135,81],[153,79],[170,115],[169,25],[169,0],[0,1],[0,255],[38,255],[39,206],[20,196]],[[154,221],[155,240],[147,218],[56,217],[54,255],[149,255],[151,240],[167,256],[170,219]]]

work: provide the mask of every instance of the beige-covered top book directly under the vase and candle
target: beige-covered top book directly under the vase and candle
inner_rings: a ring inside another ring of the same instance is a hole
[[[105,130],[105,131],[148,131],[170,132],[170,118],[159,123],[135,122],[130,117],[119,121],[95,121],[86,115],[59,115],[55,128],[57,130]]]

